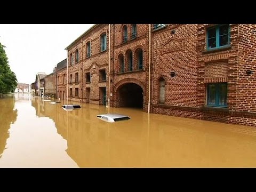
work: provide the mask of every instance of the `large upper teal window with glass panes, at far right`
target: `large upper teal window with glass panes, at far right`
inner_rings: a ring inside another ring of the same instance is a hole
[[[207,50],[229,45],[229,25],[218,25],[207,29]]]

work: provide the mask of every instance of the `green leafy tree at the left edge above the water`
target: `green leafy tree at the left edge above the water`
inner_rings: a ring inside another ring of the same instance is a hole
[[[0,93],[9,93],[17,87],[17,78],[8,64],[4,47],[0,43]]]

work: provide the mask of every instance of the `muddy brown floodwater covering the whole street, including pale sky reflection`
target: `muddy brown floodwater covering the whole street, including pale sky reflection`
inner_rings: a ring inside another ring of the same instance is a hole
[[[0,99],[0,167],[256,167],[256,128],[79,104]],[[107,123],[98,114],[128,121]]]

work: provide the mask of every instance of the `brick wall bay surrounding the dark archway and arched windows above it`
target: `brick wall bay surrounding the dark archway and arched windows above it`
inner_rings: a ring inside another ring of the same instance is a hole
[[[123,27],[127,27],[127,42],[123,42]],[[138,50],[142,50],[143,67],[138,69]],[[132,52],[133,70],[129,71],[129,63],[127,56]],[[119,62],[120,55],[124,58],[124,73],[121,73],[121,65]],[[118,107],[119,88],[126,83],[134,83],[139,85],[143,90],[143,110],[147,110],[148,102],[148,25],[137,25],[137,36],[131,38],[131,24],[114,25],[114,65],[113,65],[113,102],[114,107]]]

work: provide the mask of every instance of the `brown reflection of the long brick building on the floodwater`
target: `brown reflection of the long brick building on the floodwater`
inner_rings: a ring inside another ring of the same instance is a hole
[[[53,119],[67,140],[67,154],[79,167],[256,166],[253,127],[85,103],[79,103],[81,109],[65,111],[63,102],[51,105],[40,98],[31,103],[38,117]],[[96,118],[108,111],[131,119],[106,123]]]

